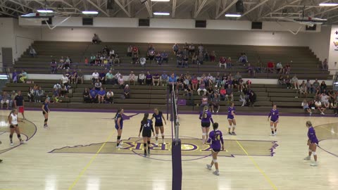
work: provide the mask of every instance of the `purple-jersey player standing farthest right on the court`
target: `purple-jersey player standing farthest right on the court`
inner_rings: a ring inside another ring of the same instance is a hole
[[[317,136],[315,136],[315,128],[312,126],[311,121],[306,122],[306,127],[308,127],[308,156],[306,156],[304,160],[311,160],[312,154],[315,162],[311,163],[311,166],[317,166],[317,153],[315,153],[315,150],[317,149],[319,141]]]

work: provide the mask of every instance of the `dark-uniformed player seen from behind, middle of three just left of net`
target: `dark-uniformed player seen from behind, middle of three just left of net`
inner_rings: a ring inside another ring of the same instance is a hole
[[[150,156],[151,132],[153,132],[155,136],[153,121],[149,120],[148,118],[149,118],[149,113],[144,113],[144,117],[141,121],[141,127],[139,128],[139,136],[141,135],[141,132],[142,132],[142,137],[143,137],[144,156]],[[146,150],[148,150],[148,155],[146,153]]]

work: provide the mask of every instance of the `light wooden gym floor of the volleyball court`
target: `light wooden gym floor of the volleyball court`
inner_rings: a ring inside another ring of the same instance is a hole
[[[129,117],[125,117],[122,150],[113,143],[115,113],[52,110],[49,129],[43,129],[42,112],[27,111],[27,120],[19,125],[23,137],[30,139],[16,146],[14,135],[13,147],[8,140],[8,113],[0,111],[0,158],[4,160],[0,189],[171,189],[170,122],[165,126],[168,144],[160,144],[151,158],[143,158],[139,156],[142,141],[137,138],[143,113],[125,113]],[[213,118],[225,134],[218,177],[205,167],[211,157],[208,146],[199,140],[198,115],[180,114],[182,189],[337,189],[337,118],[281,115],[277,137],[269,136],[267,116],[238,115],[237,137],[226,134],[226,115]],[[308,151],[306,120],[318,126],[318,167],[303,160]]]

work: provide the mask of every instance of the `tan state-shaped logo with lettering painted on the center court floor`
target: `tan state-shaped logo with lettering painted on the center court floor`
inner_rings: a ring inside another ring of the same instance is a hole
[[[160,139],[161,141],[161,139]],[[165,139],[167,144],[158,144],[155,146],[151,144],[151,154],[163,157],[156,157],[159,160],[170,160],[168,157],[171,155],[171,139]],[[181,139],[182,142],[182,156],[194,156],[194,158],[187,158],[182,160],[195,160],[199,158],[205,158],[211,154],[211,148],[208,145],[201,143],[201,139],[185,138]],[[57,148],[50,153],[96,153],[96,151],[102,146],[99,144],[88,144],[78,146],[66,146],[63,148]],[[219,156],[234,157],[246,155],[243,149],[239,146],[241,144],[244,149],[251,156],[273,156],[273,150],[277,147],[276,141],[252,141],[252,140],[230,140],[225,139],[225,151],[221,151]],[[127,140],[123,140],[123,148],[115,148],[115,142],[108,142],[100,153],[116,153],[116,154],[143,154],[143,141],[137,137],[131,137]]]

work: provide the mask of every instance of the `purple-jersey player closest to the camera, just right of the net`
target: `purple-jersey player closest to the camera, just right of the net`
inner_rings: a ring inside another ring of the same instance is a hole
[[[211,154],[213,155],[213,160],[211,160],[210,165],[206,165],[206,168],[208,168],[208,170],[211,170],[211,167],[213,167],[213,164],[215,164],[216,170],[215,172],[213,172],[213,174],[220,175],[220,172],[218,170],[217,155],[220,150],[224,151],[224,141],[222,132],[218,130],[217,122],[213,124],[213,131],[209,134],[207,144],[210,144],[211,146]]]

